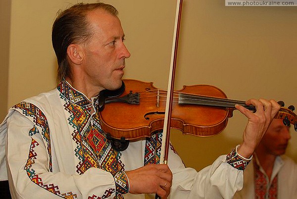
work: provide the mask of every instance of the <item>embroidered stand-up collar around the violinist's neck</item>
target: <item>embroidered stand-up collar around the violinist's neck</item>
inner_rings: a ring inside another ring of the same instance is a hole
[[[98,97],[92,98],[92,100],[88,99],[85,94],[73,88],[65,79],[63,79],[58,84],[57,90],[69,101],[85,108],[89,108],[92,104],[92,101],[95,106],[96,102],[98,101]]]

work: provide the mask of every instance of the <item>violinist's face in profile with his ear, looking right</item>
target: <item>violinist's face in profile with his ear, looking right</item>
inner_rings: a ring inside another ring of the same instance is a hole
[[[120,20],[104,10],[95,10],[88,14],[91,41],[83,44],[84,63],[82,78],[86,85],[103,89],[115,90],[121,85],[124,75],[125,58],[130,52],[125,47],[124,32]]]

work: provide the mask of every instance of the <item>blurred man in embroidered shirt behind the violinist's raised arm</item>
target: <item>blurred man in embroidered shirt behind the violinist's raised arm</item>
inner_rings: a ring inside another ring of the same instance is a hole
[[[297,164],[285,152],[290,127],[274,119],[244,171],[244,188],[234,199],[296,199]]]

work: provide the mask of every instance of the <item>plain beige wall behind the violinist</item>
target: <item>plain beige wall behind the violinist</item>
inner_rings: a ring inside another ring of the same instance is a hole
[[[176,1],[103,2],[118,8],[132,54],[125,78],[166,89]],[[55,87],[50,30],[56,11],[67,5],[61,0],[12,0],[7,107]],[[262,97],[297,105],[297,7],[226,7],[224,0],[184,0],[179,45],[176,89],[210,84],[231,99]],[[173,131],[172,143],[187,166],[200,169],[241,142],[246,122],[235,111],[223,133],[199,138]],[[297,161],[296,143],[292,129],[288,154]]]

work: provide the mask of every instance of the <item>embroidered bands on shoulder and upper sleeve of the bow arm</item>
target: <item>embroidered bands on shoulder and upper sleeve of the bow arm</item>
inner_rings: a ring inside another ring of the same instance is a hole
[[[49,171],[52,172],[52,164],[51,164],[51,150],[50,150],[50,137],[49,137],[49,125],[46,116],[44,113],[34,104],[31,104],[29,102],[21,102],[19,104],[16,104],[14,106],[16,109],[21,109],[22,113],[27,116],[31,121],[33,121],[37,126],[39,126],[42,130],[42,138],[46,143],[48,144],[47,150],[49,153]],[[27,163],[24,167],[24,170],[26,170],[28,177],[31,179],[31,181],[38,186],[46,189],[47,191],[58,195],[63,198],[71,198],[71,199],[77,199],[77,195],[73,194],[72,192],[67,193],[60,193],[59,187],[54,184],[44,184],[42,177],[40,177],[38,174],[36,174],[33,166],[35,164],[35,159],[37,159],[38,153],[36,152],[35,148],[40,145],[36,140],[33,139],[33,136],[40,133],[37,126],[33,126],[33,128],[29,131],[29,136],[31,137],[31,146],[28,154]]]

